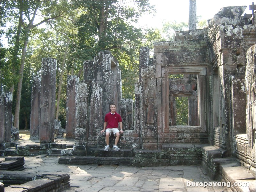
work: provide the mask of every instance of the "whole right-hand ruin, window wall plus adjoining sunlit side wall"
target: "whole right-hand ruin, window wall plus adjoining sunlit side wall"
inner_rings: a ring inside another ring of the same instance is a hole
[[[255,173],[255,46],[250,48],[255,22],[243,18],[245,8],[224,7],[208,27],[177,32],[173,42],[154,43],[153,62],[149,49],[140,49],[135,130],[142,149],[210,142],[222,149],[222,157],[235,155]],[[170,74],[192,75],[195,83],[169,79]],[[176,96],[189,97],[187,126],[175,123]]]

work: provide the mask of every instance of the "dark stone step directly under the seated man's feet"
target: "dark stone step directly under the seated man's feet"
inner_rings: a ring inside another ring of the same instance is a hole
[[[121,148],[119,151],[116,151],[110,148],[108,151],[104,151],[104,147],[88,147],[87,155],[95,157],[133,157],[134,150],[133,148]]]

